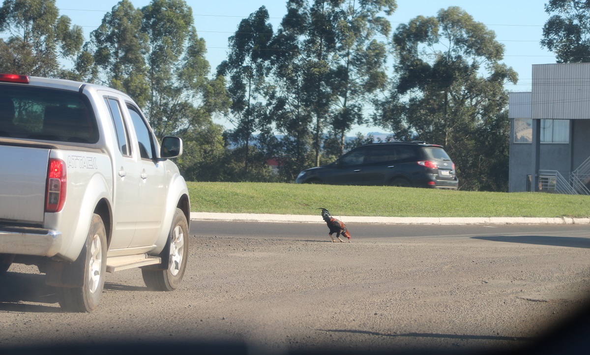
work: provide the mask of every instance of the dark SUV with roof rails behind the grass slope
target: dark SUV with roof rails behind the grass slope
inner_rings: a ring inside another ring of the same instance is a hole
[[[303,170],[295,182],[453,190],[459,184],[455,165],[442,146],[422,142],[356,147],[329,165]]]

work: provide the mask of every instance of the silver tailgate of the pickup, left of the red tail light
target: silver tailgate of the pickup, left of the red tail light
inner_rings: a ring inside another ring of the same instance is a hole
[[[40,224],[49,149],[0,146],[0,221]]]

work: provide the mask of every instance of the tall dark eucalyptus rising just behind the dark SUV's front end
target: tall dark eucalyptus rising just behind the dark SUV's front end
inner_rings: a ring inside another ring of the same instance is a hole
[[[336,55],[336,21],[341,0],[287,1],[287,14],[273,41],[273,74],[277,80],[271,102],[278,117],[277,129],[287,131],[283,140],[301,166],[311,140],[313,160],[320,164],[324,130],[335,93],[330,82]],[[305,164],[307,165],[307,164]]]

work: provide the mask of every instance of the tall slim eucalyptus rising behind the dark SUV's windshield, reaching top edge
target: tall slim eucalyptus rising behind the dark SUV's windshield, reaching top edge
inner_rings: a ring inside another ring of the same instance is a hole
[[[345,148],[346,133],[354,124],[367,123],[363,113],[375,91],[386,86],[385,41],[391,23],[382,15],[391,15],[397,5],[395,0],[342,0],[337,3],[336,56],[331,90],[335,93],[329,130],[339,140],[339,155]]]

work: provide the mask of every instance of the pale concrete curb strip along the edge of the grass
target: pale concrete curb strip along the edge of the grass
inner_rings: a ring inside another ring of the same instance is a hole
[[[382,224],[590,224],[590,218],[539,217],[361,217],[336,216],[346,223]],[[325,223],[320,215],[274,215],[259,213],[191,212],[193,221],[247,221]]]

